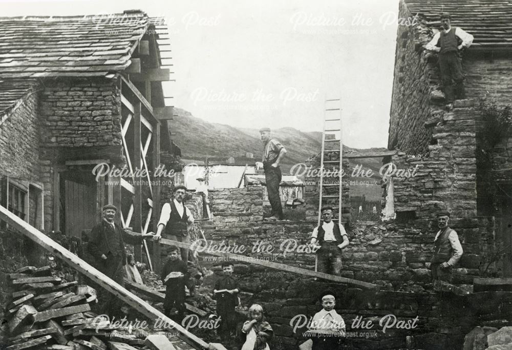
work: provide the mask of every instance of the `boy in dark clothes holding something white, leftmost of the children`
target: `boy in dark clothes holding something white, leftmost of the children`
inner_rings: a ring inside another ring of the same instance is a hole
[[[185,316],[185,282],[189,274],[187,264],[180,260],[180,250],[176,245],[169,246],[169,259],[162,269],[162,282],[165,285],[165,300],[163,303],[165,316],[170,316],[170,311],[176,305],[178,310],[177,322],[181,322]]]

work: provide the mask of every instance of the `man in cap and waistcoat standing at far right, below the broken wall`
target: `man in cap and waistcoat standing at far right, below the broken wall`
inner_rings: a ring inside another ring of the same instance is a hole
[[[440,212],[437,215],[439,231],[434,238],[434,254],[430,264],[433,281],[451,282],[452,266],[460,260],[463,253],[459,236],[449,227],[449,221],[450,213]]]

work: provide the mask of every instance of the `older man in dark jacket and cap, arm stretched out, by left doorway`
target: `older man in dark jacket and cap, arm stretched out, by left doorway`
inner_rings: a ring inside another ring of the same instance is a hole
[[[126,264],[124,243],[142,244],[142,240],[152,238],[153,234],[140,234],[124,230],[114,221],[117,208],[107,204],[102,208],[102,217],[92,230],[88,244],[88,251],[95,259],[95,267],[106,276],[120,285],[123,283],[123,265]],[[102,313],[119,315],[121,304],[109,292],[100,288],[98,291],[98,310]]]

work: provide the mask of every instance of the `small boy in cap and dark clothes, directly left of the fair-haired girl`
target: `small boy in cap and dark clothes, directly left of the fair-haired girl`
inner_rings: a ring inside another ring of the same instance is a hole
[[[235,331],[234,308],[238,305],[238,281],[233,275],[234,267],[229,261],[222,263],[223,277],[215,283],[214,299],[217,300],[217,315],[221,318],[220,335]]]

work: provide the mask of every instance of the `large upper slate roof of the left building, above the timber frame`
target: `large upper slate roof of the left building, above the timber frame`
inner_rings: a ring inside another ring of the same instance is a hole
[[[126,12],[0,17],[0,79],[105,76],[125,69],[156,20],[141,11]]]

